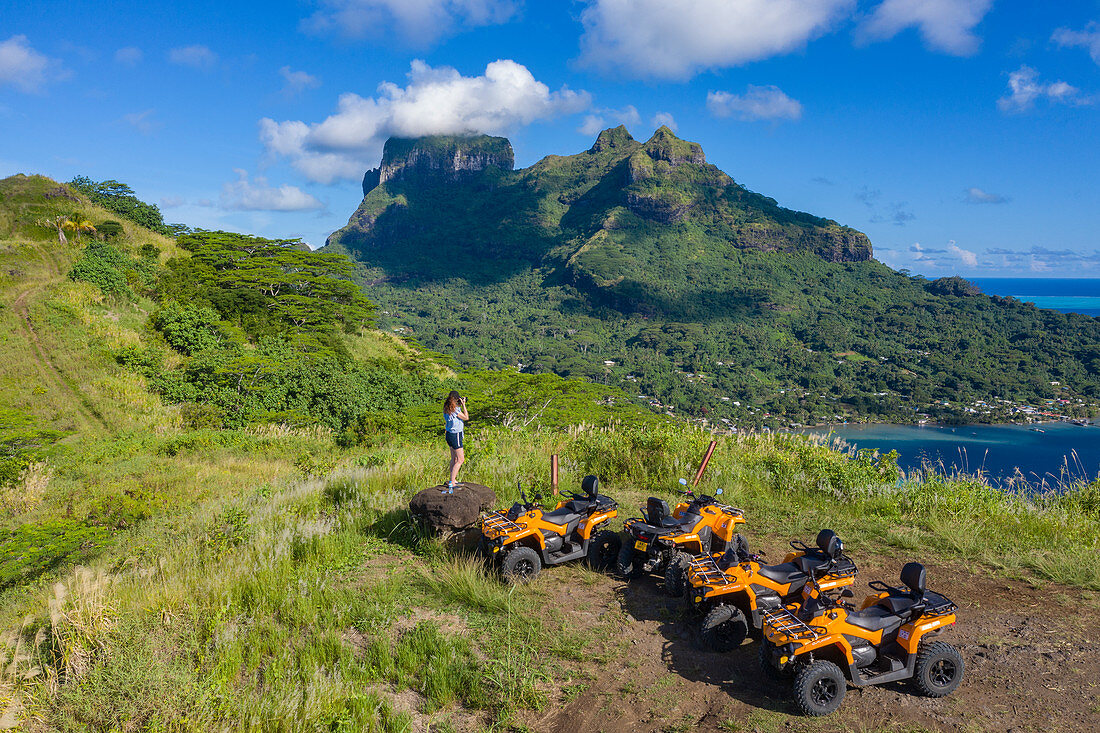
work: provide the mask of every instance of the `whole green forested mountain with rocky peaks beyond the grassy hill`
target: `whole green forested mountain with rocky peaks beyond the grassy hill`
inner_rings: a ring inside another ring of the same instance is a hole
[[[362,263],[380,325],[730,425],[1076,415],[1100,395],[1096,319],[894,272],[667,128],[512,161],[502,138],[387,143],[329,239]]]

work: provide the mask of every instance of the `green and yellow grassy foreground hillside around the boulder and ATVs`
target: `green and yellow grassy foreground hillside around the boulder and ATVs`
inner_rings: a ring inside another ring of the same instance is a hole
[[[698,665],[717,664],[713,655],[666,668],[654,650],[647,664],[659,661],[659,677],[648,670],[644,681],[603,683],[646,661],[639,649],[652,644],[654,619],[662,628],[685,627],[675,606],[581,567],[510,589],[410,523],[409,496],[446,472],[436,434],[441,395],[365,413],[350,430],[331,427],[327,415],[280,423],[261,419],[271,417],[263,412],[232,426],[199,407],[222,404],[213,392],[220,375],[238,379],[235,359],[256,364],[283,354],[264,362],[271,379],[282,379],[286,363],[328,343],[355,369],[468,391],[475,419],[463,478],[494,488],[502,503],[516,497],[517,481],[548,491],[548,457],[558,453],[563,485],[600,474],[620,516],[650,493],[674,499],[670,488],[692,472],[710,434],[657,420],[591,383],[455,372],[370,328],[333,336],[321,324],[298,335],[300,353],[264,351],[262,343],[294,336],[293,328],[232,310],[252,297],[235,287],[204,289],[222,281],[191,291],[196,307],[202,300],[222,310],[182,330],[186,319],[164,316],[174,307],[166,288],[222,250],[195,239],[183,239],[193,248],[183,249],[124,223],[111,243],[125,256],[96,262],[116,263],[129,294],[105,293],[69,277],[89,251],[102,252],[101,240],[70,233],[63,245],[34,225],[63,194],[73,195],[45,178],[0,182],[0,725],[522,731],[552,729],[548,716],[560,714],[560,730],[578,730],[587,723],[571,716],[573,702],[603,710],[628,700],[646,711],[630,719],[634,729],[685,730],[681,705],[692,693],[683,685]],[[63,206],[74,219],[108,218],[79,197]],[[155,281],[142,278],[152,264],[147,245],[158,250]],[[227,265],[219,277],[239,270]],[[221,340],[185,352],[172,344],[196,341],[180,335]],[[227,350],[237,355],[219,361]],[[158,361],[145,358],[153,351]],[[211,363],[210,395],[176,401],[164,386],[199,379],[199,366]],[[717,488],[745,510],[750,541],[772,557],[787,539],[827,525],[876,569],[895,575],[901,558],[916,557],[937,578],[950,568],[998,582],[1020,578],[1065,599],[1067,619],[1092,617],[1097,484],[1005,496],[980,479],[900,477],[890,456],[743,435],[719,440],[702,485]],[[987,600],[974,602],[989,611]],[[1012,613],[1019,620],[1018,606]],[[741,730],[746,721],[822,730],[790,716],[779,691],[767,693],[776,700],[752,698],[748,709],[725,687],[708,694],[713,720],[704,730]],[[829,723],[865,730],[875,704],[853,702]],[[914,704],[913,720],[924,720],[925,703]],[[960,724],[981,726],[983,709],[966,707],[978,712],[960,713]]]

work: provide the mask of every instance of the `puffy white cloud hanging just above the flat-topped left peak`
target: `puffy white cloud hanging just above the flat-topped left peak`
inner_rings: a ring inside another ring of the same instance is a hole
[[[343,94],[337,113],[321,122],[265,118],[260,139],[268,152],[290,158],[310,180],[332,183],[362,176],[377,163],[391,135],[506,134],[588,106],[587,92],[566,87],[550,91],[514,61],[495,61],[485,74],[473,77],[414,61],[408,86],[385,81],[376,97]]]

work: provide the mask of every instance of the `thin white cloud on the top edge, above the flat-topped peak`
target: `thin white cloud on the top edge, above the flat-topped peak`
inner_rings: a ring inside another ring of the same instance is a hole
[[[322,9],[302,22],[314,33],[348,39],[385,37],[393,28],[406,43],[424,47],[459,26],[506,22],[514,0],[321,0]]]

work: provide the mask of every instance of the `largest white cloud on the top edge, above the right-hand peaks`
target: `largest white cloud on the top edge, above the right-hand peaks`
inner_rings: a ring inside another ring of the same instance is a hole
[[[631,77],[686,79],[798,51],[855,0],[586,0],[581,61]]]

